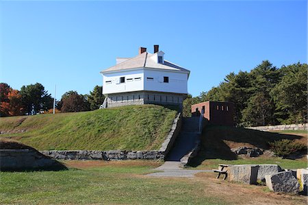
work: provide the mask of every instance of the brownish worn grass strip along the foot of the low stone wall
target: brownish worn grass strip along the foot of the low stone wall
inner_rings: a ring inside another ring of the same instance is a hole
[[[67,167],[77,169],[87,169],[94,167],[140,167],[150,166],[159,167],[163,162],[154,160],[121,160],[121,161],[103,161],[103,160],[65,160]]]

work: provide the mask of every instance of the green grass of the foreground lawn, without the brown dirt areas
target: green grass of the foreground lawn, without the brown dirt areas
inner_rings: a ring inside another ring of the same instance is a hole
[[[1,172],[0,204],[227,204],[200,183],[143,176],[157,165]]]

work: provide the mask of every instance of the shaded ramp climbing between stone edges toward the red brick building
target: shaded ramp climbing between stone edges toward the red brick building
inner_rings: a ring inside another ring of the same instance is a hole
[[[181,132],[177,136],[175,145],[170,150],[166,161],[179,162],[185,154],[188,154],[194,148],[199,136],[198,121],[199,117],[183,118]]]

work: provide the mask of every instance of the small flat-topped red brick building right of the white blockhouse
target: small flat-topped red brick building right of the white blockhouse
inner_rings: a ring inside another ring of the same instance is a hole
[[[192,105],[192,116],[200,116],[208,120],[211,125],[228,125],[233,126],[234,106],[230,102],[222,101],[204,101]]]

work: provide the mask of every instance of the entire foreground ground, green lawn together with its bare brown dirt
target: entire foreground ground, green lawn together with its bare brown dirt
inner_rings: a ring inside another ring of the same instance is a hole
[[[151,160],[65,163],[73,168],[0,172],[0,204],[306,204],[305,196],[217,180],[215,173],[145,176],[162,163]]]

